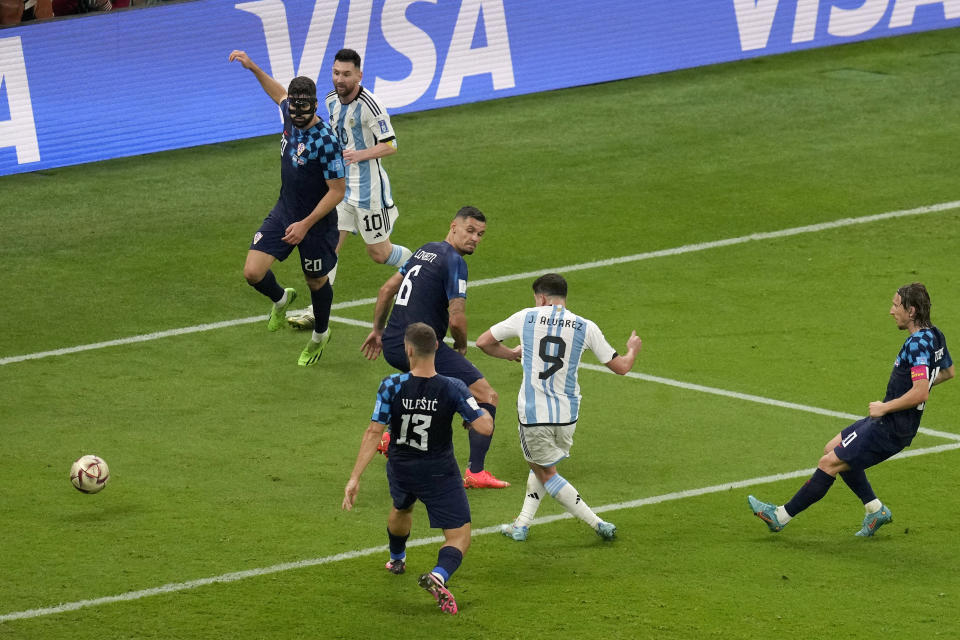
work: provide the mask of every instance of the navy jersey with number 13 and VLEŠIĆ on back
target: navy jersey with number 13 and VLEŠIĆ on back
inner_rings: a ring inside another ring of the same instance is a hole
[[[453,455],[455,413],[467,422],[483,416],[465,384],[439,374],[395,373],[380,383],[372,420],[390,428],[391,459],[438,457]]]

